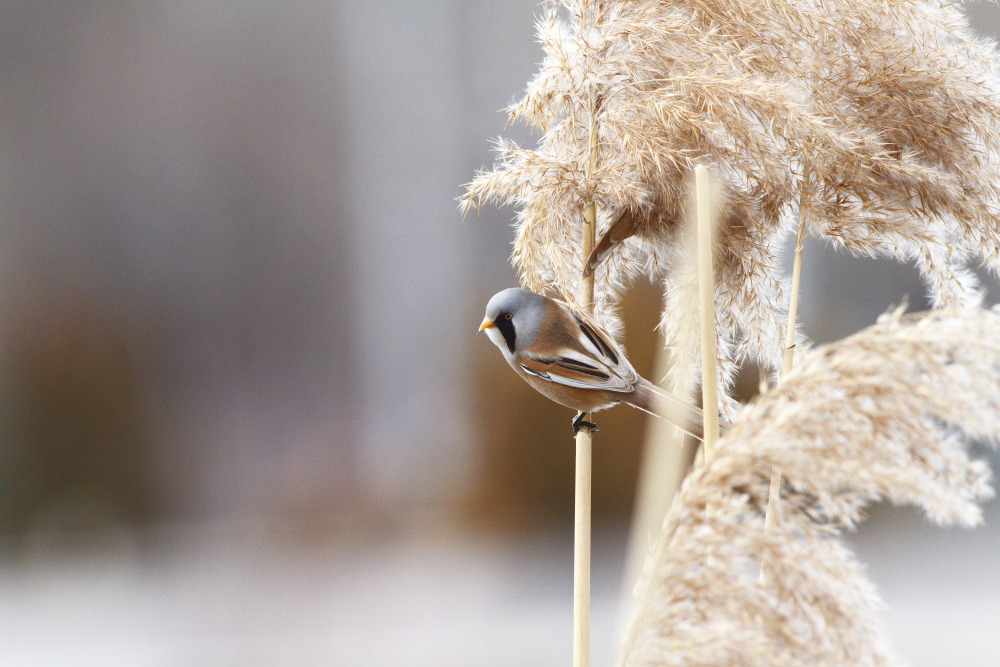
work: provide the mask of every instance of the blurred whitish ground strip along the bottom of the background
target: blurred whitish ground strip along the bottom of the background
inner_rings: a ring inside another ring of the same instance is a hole
[[[913,665],[1000,664],[1000,551],[989,530],[904,516],[854,539]],[[0,664],[423,665],[570,662],[569,535],[453,530],[308,541],[186,526],[102,546],[6,549]],[[594,554],[594,665],[613,664],[625,539]],[[69,553],[63,551],[63,553]]]

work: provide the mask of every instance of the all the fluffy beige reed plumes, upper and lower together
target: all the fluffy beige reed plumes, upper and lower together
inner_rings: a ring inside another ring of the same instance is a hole
[[[538,146],[499,140],[463,207],[517,207],[528,288],[573,304],[593,270],[611,331],[628,283],[661,281],[675,391],[700,380],[689,175],[708,163],[721,182],[719,410],[735,426],[667,517],[622,664],[891,664],[877,596],[838,535],[876,500],[971,525],[990,495],[962,436],[1000,436],[1000,313],[979,309],[970,271],[1000,275],[993,45],[944,0],[564,0],[547,3],[539,37],[541,69],[510,109]],[[599,240],[585,258],[589,202]],[[797,355],[741,409],[739,366],[782,366],[778,256],[798,221],[913,262],[941,310]]]

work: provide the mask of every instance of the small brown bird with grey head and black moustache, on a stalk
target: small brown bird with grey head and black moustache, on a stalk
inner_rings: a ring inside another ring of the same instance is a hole
[[[666,419],[702,439],[702,411],[643,379],[614,340],[565,304],[512,287],[486,305],[479,325],[507,363],[532,387],[577,410],[573,432],[587,413],[618,403]]]

